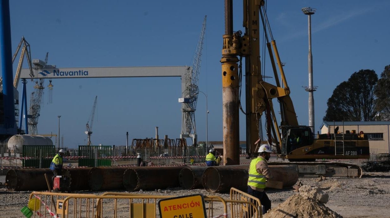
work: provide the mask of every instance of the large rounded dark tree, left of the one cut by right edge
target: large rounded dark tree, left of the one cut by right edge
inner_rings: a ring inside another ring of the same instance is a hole
[[[360,70],[340,83],[328,99],[324,121],[373,121],[376,115],[374,90],[378,75]]]

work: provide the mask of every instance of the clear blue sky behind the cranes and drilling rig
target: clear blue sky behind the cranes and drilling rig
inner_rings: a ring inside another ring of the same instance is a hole
[[[388,0],[268,1],[268,18],[286,63],[284,71],[300,124],[308,125],[308,92],[302,88],[308,86],[307,15],[301,8],[317,9],[312,15],[312,53],[314,85],[318,86],[315,131],[319,131],[326,101],[339,83],[360,69],[373,69],[379,76],[390,64],[389,6]],[[11,0],[10,10],[12,53],[24,35],[33,59],[44,60],[49,52],[48,64],[60,68],[190,66],[207,15],[199,89],[208,97],[208,140],[222,140],[222,0]],[[243,30],[242,19],[242,2],[235,0],[235,31]],[[266,66],[266,75],[272,75],[270,69]],[[38,133],[57,134],[57,115],[61,115],[60,135],[67,147],[85,144],[85,124],[95,96],[94,145],[125,145],[126,131],[129,144],[133,138],[154,137],[155,126],[160,138],[179,137],[180,78],[57,79],[52,83],[53,103],[48,103],[46,88]],[[27,84],[28,100],[32,85]],[[21,87],[20,83],[20,92]],[[195,117],[199,141],[206,140],[203,94],[199,94]],[[240,139],[245,140],[243,115]]]

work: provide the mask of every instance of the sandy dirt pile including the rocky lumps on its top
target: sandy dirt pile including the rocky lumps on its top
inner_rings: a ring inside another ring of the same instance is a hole
[[[289,197],[285,202],[264,214],[264,218],[342,218],[325,206],[328,195],[319,187],[302,186],[299,194]]]

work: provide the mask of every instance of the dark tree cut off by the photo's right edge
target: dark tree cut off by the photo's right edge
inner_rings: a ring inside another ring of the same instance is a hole
[[[390,65],[385,67],[375,88],[378,121],[390,121]]]

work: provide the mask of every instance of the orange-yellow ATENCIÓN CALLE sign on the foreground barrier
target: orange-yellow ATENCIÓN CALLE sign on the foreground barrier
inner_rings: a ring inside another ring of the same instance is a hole
[[[202,194],[161,199],[158,209],[161,218],[206,218]]]

